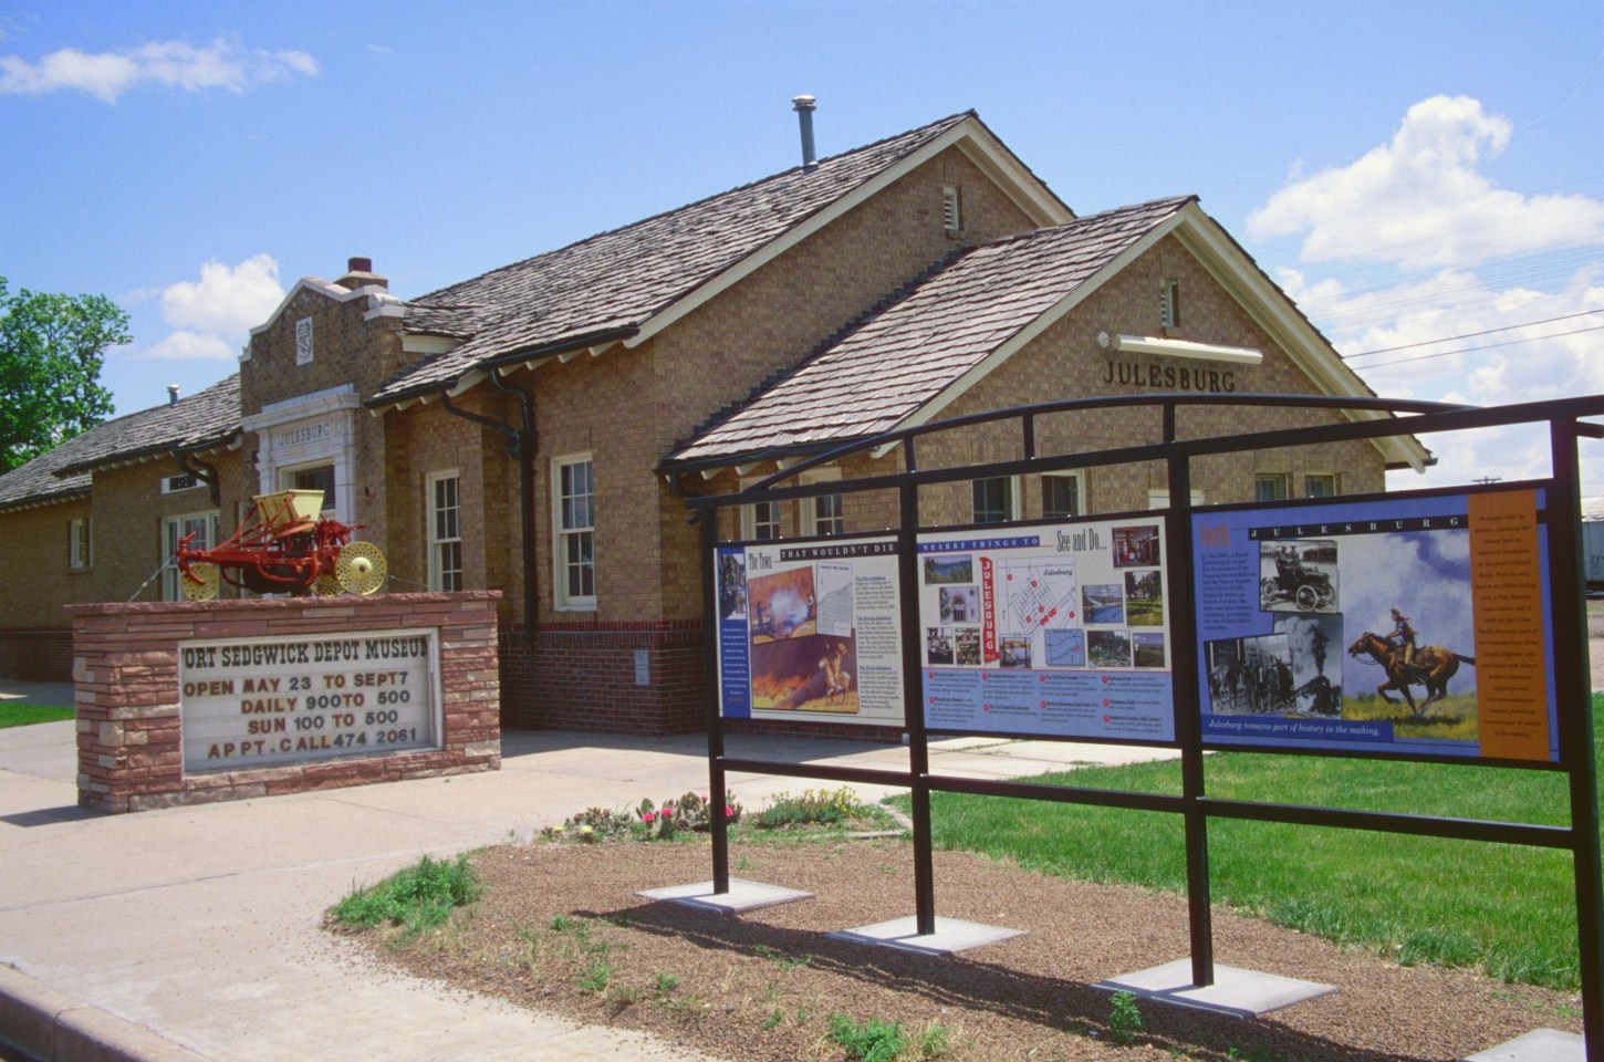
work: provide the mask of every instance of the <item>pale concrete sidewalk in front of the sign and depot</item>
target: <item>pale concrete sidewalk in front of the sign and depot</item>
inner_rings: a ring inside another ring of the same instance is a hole
[[[905,749],[831,740],[735,738],[730,754],[898,770],[908,762]],[[1004,778],[1153,756],[970,738],[940,743],[932,764]],[[423,853],[523,839],[589,805],[706,789],[701,735],[518,732],[504,738],[500,772],[117,817],[77,807],[75,772],[72,722],[0,730],[0,1040],[35,1057],[699,1057],[398,977],[322,932],[319,919],[353,886]],[[747,807],[818,784],[731,776]]]

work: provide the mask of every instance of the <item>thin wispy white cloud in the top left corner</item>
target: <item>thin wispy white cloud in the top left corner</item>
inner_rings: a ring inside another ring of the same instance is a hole
[[[103,53],[61,48],[37,63],[14,55],[0,56],[0,95],[75,88],[115,103],[140,83],[242,93],[265,82],[316,74],[318,61],[305,51],[245,50],[226,37],[200,48],[181,40],[165,40]]]

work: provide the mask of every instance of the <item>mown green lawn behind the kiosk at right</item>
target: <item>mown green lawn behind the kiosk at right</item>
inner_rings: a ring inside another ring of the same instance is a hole
[[[1594,698],[1593,714],[1604,733],[1604,696]],[[1554,772],[1245,752],[1209,756],[1206,772],[1209,796],[1224,799],[1569,821],[1566,780]],[[1181,767],[1086,768],[1041,781],[1181,792]],[[934,794],[932,809],[938,847],[1068,878],[1174,892],[1185,886],[1177,815],[946,792]],[[1213,820],[1209,881],[1216,903],[1402,963],[1578,985],[1569,852]]]

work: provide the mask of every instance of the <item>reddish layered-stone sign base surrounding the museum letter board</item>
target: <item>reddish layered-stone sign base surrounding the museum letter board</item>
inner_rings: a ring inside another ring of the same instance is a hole
[[[75,605],[79,804],[103,812],[237,801],[500,767],[497,592]],[[178,643],[438,629],[441,748],[184,773]]]

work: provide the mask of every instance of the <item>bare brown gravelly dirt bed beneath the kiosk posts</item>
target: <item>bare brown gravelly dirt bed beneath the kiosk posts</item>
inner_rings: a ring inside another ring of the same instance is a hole
[[[832,1014],[927,1035],[924,1054],[914,1043],[903,1057],[967,1060],[1452,1060],[1532,1028],[1580,1032],[1575,996],[1404,967],[1217,910],[1217,963],[1339,991],[1251,1022],[1142,1003],[1145,1028],[1121,1046],[1108,996],[1091,985],[1187,956],[1181,897],[943,852],[938,913],[1027,935],[953,958],[826,940],[913,913],[901,841],[738,845],[735,876],[818,894],[739,918],[635,895],[707,881],[706,841],[534,842],[486,850],[476,865],[486,897],[475,908],[407,950],[366,934],[372,953],[456,988],[648,1030],[731,1062],[855,1057],[829,1040]]]

